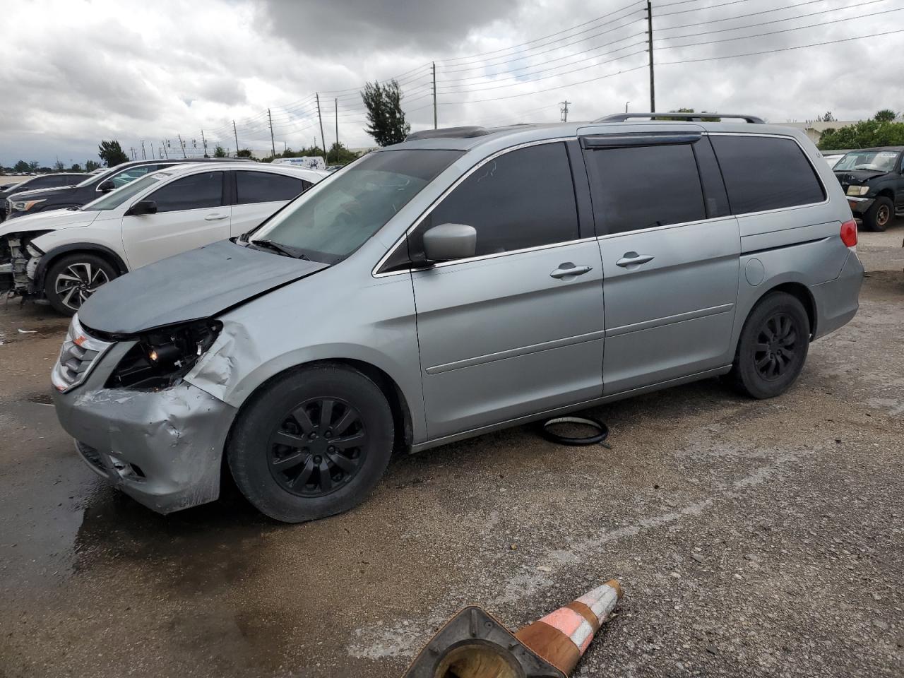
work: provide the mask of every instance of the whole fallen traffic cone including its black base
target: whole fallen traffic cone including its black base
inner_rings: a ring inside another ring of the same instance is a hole
[[[611,579],[514,634],[480,607],[466,607],[402,678],[566,678],[621,596]]]

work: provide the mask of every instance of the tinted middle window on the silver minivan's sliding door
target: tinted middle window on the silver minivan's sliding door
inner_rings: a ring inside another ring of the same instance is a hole
[[[602,233],[641,231],[706,218],[691,144],[585,153]]]

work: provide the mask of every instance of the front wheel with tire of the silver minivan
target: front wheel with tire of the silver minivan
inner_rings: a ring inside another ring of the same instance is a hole
[[[226,457],[260,513],[302,523],[361,504],[389,465],[393,435],[389,402],[373,381],[344,365],[318,365],[286,372],[255,394]]]

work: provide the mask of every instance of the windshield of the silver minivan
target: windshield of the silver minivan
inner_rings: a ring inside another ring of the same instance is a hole
[[[304,193],[254,233],[334,264],[357,250],[461,151],[377,151]]]

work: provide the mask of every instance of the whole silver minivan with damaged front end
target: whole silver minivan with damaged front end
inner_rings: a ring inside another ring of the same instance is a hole
[[[229,472],[298,522],[394,450],[715,376],[783,393],[857,311],[841,186],[794,129],[645,118],[419,132],[113,280],[54,367],[63,428],[155,511]]]

